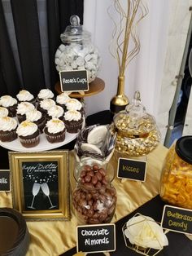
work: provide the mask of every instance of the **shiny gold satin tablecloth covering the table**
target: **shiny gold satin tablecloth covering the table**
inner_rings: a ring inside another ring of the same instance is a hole
[[[117,205],[112,223],[130,214],[133,210],[145,204],[146,201],[150,201],[159,194],[160,174],[167,152],[167,148],[159,145],[147,155],[146,181],[144,183],[118,178],[113,180],[112,183],[117,192]],[[73,152],[70,152],[69,161],[70,179],[72,188],[74,188],[75,181],[72,176],[74,166]],[[116,170],[116,155],[111,158],[111,163]],[[12,207],[11,192],[0,192],[0,206]],[[55,256],[63,254],[68,249],[76,246],[77,223],[72,206],[70,221],[37,221],[27,222],[27,225],[30,233],[30,245],[26,256]]]

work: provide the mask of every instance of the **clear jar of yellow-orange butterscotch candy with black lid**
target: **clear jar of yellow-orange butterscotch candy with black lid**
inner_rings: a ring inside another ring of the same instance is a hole
[[[192,210],[192,136],[172,144],[161,176],[160,196],[171,205]]]

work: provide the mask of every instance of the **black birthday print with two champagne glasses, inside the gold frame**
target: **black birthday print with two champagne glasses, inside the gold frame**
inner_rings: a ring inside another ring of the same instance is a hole
[[[59,210],[58,161],[23,161],[24,210]]]

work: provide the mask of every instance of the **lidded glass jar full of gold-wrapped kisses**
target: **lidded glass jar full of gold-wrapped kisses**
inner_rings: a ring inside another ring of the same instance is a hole
[[[151,152],[160,141],[160,132],[155,118],[146,113],[141,104],[140,93],[136,91],[132,104],[113,118],[116,132],[116,152],[129,157],[140,157]]]

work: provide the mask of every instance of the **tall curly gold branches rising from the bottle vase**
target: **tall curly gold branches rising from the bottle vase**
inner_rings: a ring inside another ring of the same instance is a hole
[[[127,7],[123,7],[122,0],[113,0],[116,12],[120,16],[120,22],[117,24],[116,20],[108,13],[115,25],[112,33],[112,44],[110,46],[111,55],[116,58],[119,66],[119,75],[124,76],[125,69],[131,60],[140,51],[140,41],[137,35],[137,24],[147,15],[148,8],[142,0],[127,0]],[[126,10],[124,10],[126,9]],[[125,24],[125,27],[124,27]],[[133,47],[129,51],[129,43],[132,39]],[[116,41],[116,47],[114,47]],[[114,52],[114,48],[116,51]]]

